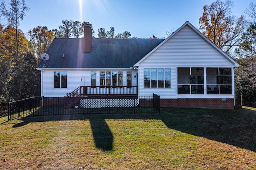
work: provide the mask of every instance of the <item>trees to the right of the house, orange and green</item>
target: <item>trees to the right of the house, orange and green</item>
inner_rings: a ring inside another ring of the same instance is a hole
[[[256,107],[256,3],[244,10],[246,17],[232,15],[231,0],[216,0],[203,7],[200,30],[215,45],[240,64],[235,69],[235,91],[243,103]]]

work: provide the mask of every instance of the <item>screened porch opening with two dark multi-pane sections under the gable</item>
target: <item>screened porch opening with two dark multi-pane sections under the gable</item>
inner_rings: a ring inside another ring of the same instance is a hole
[[[232,68],[178,67],[178,95],[232,95]]]

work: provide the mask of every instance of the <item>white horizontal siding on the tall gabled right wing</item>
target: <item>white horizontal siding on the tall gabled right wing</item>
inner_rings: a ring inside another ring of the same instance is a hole
[[[157,93],[162,99],[177,98],[177,67],[234,67],[234,65],[189,26],[184,26],[139,64],[139,95]],[[171,68],[171,88],[144,88],[144,68]]]

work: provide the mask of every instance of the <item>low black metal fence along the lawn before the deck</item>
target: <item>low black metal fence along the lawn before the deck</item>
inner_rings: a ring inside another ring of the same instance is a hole
[[[74,114],[160,113],[160,96],[32,97],[8,104],[8,121],[22,117]]]

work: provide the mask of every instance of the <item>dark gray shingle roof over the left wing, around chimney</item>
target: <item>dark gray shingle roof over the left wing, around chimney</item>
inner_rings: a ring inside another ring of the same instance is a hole
[[[91,52],[84,53],[83,38],[57,38],[47,51],[50,59],[46,61],[46,68],[130,68],[162,41],[164,39],[92,39]],[[42,64],[41,61],[39,65]]]

